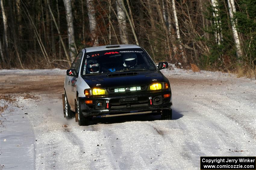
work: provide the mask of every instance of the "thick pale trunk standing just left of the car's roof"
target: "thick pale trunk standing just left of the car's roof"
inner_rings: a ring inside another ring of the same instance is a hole
[[[74,26],[73,26],[73,14],[71,7],[71,0],[63,0],[66,9],[66,20],[67,20],[67,35],[68,35],[68,46],[69,46],[69,56],[73,61],[75,56],[75,40],[74,40]]]

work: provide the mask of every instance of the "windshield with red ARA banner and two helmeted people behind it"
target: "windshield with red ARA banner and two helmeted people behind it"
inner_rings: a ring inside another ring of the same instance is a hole
[[[83,62],[83,75],[156,69],[143,49],[112,49],[89,52],[85,54]]]

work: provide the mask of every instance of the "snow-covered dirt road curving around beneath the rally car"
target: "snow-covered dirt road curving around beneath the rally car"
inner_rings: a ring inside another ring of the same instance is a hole
[[[0,72],[6,169],[200,169],[200,156],[256,155],[255,80],[164,70],[173,120],[97,117],[86,127],[63,117],[65,70],[28,72]]]

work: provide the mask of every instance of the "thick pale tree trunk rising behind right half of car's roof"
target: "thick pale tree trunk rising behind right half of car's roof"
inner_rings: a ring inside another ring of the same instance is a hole
[[[128,44],[128,40],[126,37],[127,35],[126,17],[122,7],[121,0],[116,0],[116,5],[117,5],[117,21],[119,23],[119,33],[120,33],[121,42],[123,44]]]

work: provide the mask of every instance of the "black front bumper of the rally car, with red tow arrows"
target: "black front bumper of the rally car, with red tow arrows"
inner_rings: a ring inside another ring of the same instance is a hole
[[[170,97],[164,98],[164,94],[170,94]],[[84,116],[161,112],[162,109],[172,109],[172,94],[169,89],[79,97],[79,100]],[[86,100],[92,100],[92,104],[85,104]]]

